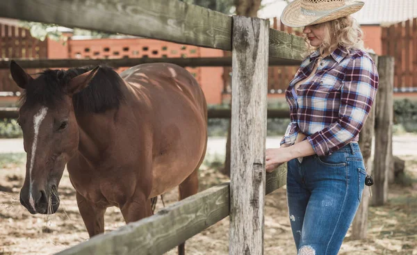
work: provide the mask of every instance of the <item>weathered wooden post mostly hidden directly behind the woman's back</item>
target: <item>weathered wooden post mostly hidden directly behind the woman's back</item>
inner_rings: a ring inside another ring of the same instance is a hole
[[[370,56],[373,58],[375,65],[378,66],[378,56],[375,54],[370,54]],[[366,122],[362,127],[361,133],[359,134],[359,147],[361,148],[363,163],[365,163],[365,166],[367,167],[366,172],[368,172],[369,175],[372,175],[373,168],[371,155],[373,135],[375,129],[374,127],[376,104],[377,101],[375,100],[373,107],[370,109],[368,118],[366,119]],[[366,238],[366,233],[368,230],[369,197],[369,187],[365,186],[363,188],[361,204],[359,204],[357,214],[354,216],[354,220],[352,222],[351,238],[353,240]]]

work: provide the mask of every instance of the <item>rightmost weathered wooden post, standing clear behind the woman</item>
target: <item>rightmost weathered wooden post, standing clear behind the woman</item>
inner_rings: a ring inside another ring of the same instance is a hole
[[[389,171],[392,156],[392,124],[393,124],[393,89],[394,89],[394,58],[380,56],[378,58],[379,88],[377,92],[375,113],[375,157],[373,189],[374,206],[382,206],[388,198]]]

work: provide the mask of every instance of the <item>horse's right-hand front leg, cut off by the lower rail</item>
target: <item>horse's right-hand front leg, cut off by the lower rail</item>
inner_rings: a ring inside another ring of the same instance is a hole
[[[126,224],[152,215],[151,199],[147,199],[142,192],[139,192],[131,201],[127,201],[120,207]]]

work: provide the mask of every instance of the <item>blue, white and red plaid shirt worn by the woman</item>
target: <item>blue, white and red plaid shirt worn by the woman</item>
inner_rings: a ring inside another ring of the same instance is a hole
[[[339,47],[320,62],[316,74],[309,76],[319,51],[307,57],[286,89],[291,123],[281,145],[293,145],[304,133],[318,156],[328,156],[349,142],[359,140],[359,131],[368,117],[378,88],[378,73],[370,56],[360,50],[347,52]]]

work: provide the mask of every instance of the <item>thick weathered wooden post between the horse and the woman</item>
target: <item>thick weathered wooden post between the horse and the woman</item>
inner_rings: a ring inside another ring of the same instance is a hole
[[[263,254],[269,22],[233,17],[229,254]]]

